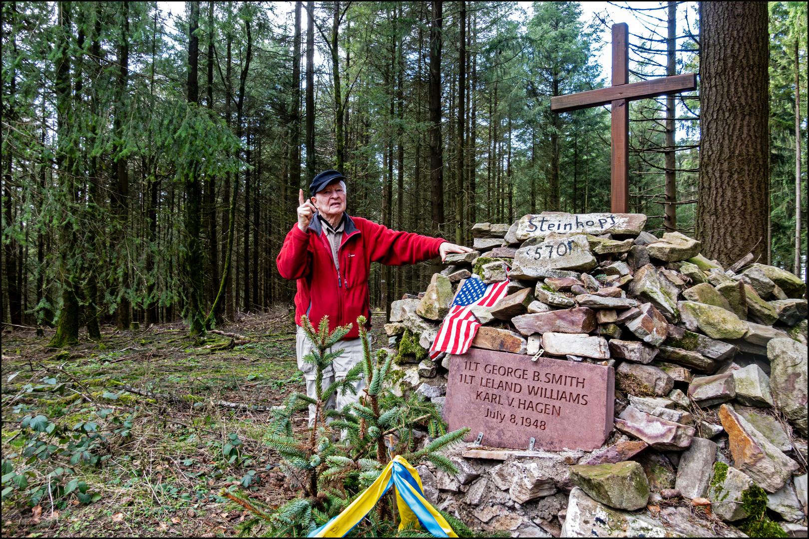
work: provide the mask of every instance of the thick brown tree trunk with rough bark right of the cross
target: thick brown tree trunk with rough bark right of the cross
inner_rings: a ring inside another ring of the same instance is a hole
[[[697,238],[702,254],[766,260],[769,34],[763,2],[701,2],[701,148]],[[743,88],[744,91],[739,91]]]

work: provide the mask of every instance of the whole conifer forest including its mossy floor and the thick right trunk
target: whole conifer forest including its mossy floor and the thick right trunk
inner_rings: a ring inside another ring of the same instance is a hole
[[[633,21],[629,82],[698,83],[627,102],[629,213],[806,281],[806,3],[739,2],[760,3],[745,24],[733,2],[588,3],[2,2],[3,536],[297,535],[337,514],[321,493],[309,520],[273,516],[310,488],[279,462],[323,443],[290,441],[276,259],[299,190],[340,171],[350,216],[465,246],[476,223],[610,211],[610,106],[550,102],[610,86],[613,23]],[[374,353],[391,302],[441,269],[371,265]],[[413,465],[461,436],[429,404],[391,415],[438,440]],[[333,459],[384,463],[381,444]],[[394,533],[391,503],[357,533]]]

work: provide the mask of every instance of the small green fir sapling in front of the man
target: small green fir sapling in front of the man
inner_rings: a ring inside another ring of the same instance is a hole
[[[303,331],[313,345],[311,353],[304,360],[315,364],[316,387],[322,387],[324,370],[343,352],[327,352],[328,348],[345,336],[350,326],[341,326],[329,333],[328,318],[320,322],[318,331],[314,330],[308,318],[303,317],[302,322]],[[228,497],[256,515],[256,518],[245,522],[245,530],[249,531],[260,520],[269,520],[274,534],[299,536],[309,533],[337,516],[370,486],[392,454],[402,455],[412,465],[429,460],[440,469],[457,472],[452,462],[439,455],[438,451],[463,440],[469,429],[446,432],[433,403],[423,402],[417,394],[412,394],[408,399],[392,394],[388,386],[395,377],[391,368],[393,356],[381,352],[376,361],[372,360],[365,323],[366,318],[357,319],[363,343],[362,360],[345,378],[321,390],[317,398],[293,394],[286,399],[283,409],[275,413],[266,440],[281,454],[282,470],[287,478],[297,480],[302,486],[301,497],[273,511],[237,492],[227,493]],[[365,379],[366,388],[359,402],[346,406],[343,411],[324,410],[324,403],[332,393],[355,394],[355,382],[361,378]],[[307,410],[309,405],[315,406],[314,427],[303,436],[295,435],[292,429],[293,415]],[[413,428],[424,423],[427,423],[430,436],[438,437],[417,449]],[[334,441],[341,432],[343,440]],[[388,453],[385,436],[391,434],[397,436],[398,441]],[[355,533],[375,537],[396,533],[396,522],[388,510],[389,505],[387,499],[380,500],[376,514],[371,512],[367,519],[362,520],[355,528]],[[413,532],[419,533],[416,530]]]

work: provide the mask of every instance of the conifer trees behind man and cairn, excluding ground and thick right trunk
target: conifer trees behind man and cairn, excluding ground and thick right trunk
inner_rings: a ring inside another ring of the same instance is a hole
[[[700,71],[697,3],[679,2],[679,18],[663,7],[622,12],[657,27],[630,36],[633,82]],[[58,324],[62,344],[78,326],[183,319],[200,332],[289,302],[274,260],[299,188],[327,169],[349,177],[349,215],[457,243],[477,221],[608,210],[608,107],[549,109],[608,84],[595,61],[608,22],[582,20],[575,2],[2,10],[3,321]],[[760,247],[789,271],[806,259],[803,15],[769,4]],[[699,92],[635,101],[630,115],[630,211],[653,233],[699,236]],[[371,304],[430,274],[375,267]]]

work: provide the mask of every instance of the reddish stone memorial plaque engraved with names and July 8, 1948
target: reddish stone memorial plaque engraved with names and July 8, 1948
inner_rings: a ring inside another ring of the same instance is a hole
[[[612,432],[612,367],[469,348],[451,356],[444,419],[483,445],[561,451],[601,447]]]

